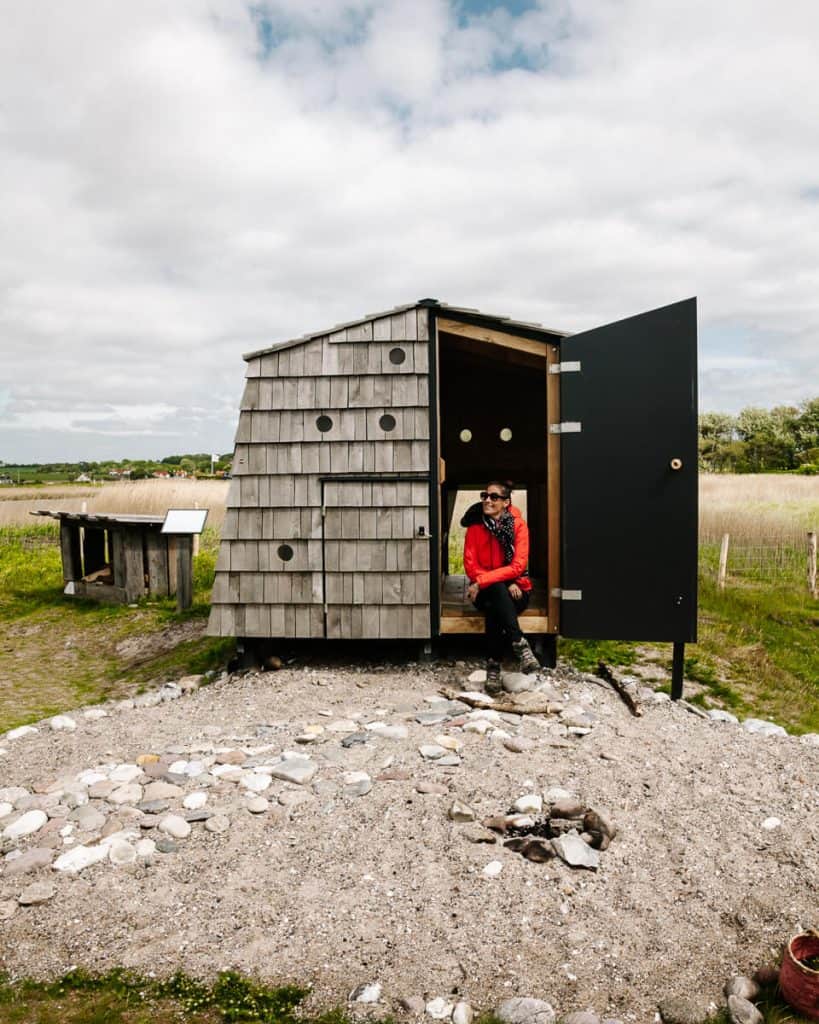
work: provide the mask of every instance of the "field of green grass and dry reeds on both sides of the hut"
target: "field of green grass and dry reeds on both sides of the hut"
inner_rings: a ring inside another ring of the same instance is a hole
[[[0,731],[227,658],[229,640],[202,635],[227,486],[143,480],[0,492]],[[83,501],[97,511],[162,513],[197,504],[210,510],[188,612],[178,614],[167,599],[133,609],[62,597],[57,525],[29,508],[79,509]],[[686,692],[694,700],[769,717],[796,732],[819,731],[819,602],[806,585],[805,542],[817,525],[819,477],[701,477],[699,643],[686,648]],[[742,568],[734,571],[729,561],[728,586],[720,591],[724,532]],[[451,545],[455,571],[463,534],[456,531]],[[747,570],[743,552],[759,556],[759,571]],[[670,659],[669,645],[612,641],[561,641],[560,652],[587,670],[598,659],[663,667]]]

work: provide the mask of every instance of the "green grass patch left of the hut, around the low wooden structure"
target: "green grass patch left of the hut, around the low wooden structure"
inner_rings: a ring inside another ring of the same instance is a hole
[[[0,732],[180,676],[219,669],[234,641],[203,636],[219,538],[193,559],[193,603],[66,597],[56,523],[0,529]]]

